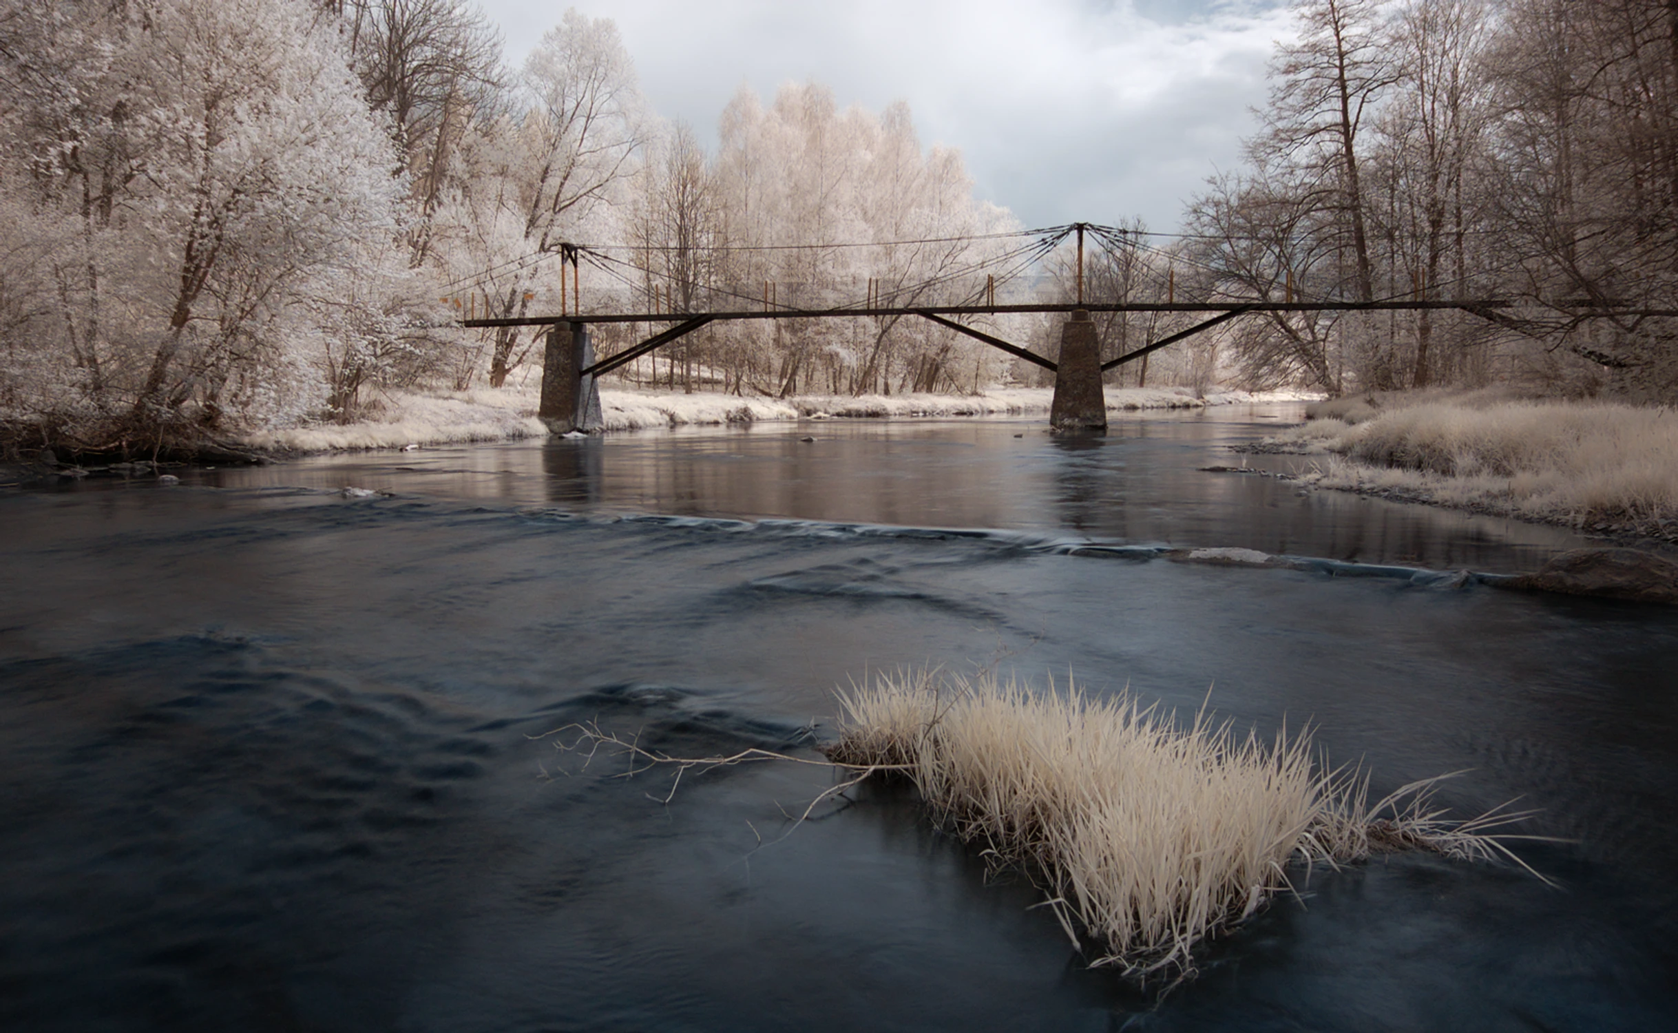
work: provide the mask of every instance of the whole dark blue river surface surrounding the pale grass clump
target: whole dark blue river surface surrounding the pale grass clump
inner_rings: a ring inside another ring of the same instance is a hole
[[[0,493],[0,1030],[1665,1030],[1678,615],[1168,560],[1532,568],[1577,540],[1253,475],[1284,411],[821,423]],[[1022,434],[1015,438],[1015,434]],[[819,441],[799,441],[816,436]],[[1270,459],[1272,468],[1299,459]],[[346,485],[391,498],[341,498]],[[975,533],[938,533],[965,528]],[[983,532],[983,533],[978,533]],[[1472,768],[1514,867],[1311,875],[1163,999],[901,792],[606,778],[545,731],[777,746],[879,667],[995,664]]]

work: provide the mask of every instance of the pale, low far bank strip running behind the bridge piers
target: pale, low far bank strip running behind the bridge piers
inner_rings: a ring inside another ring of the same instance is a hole
[[[715,392],[656,392],[602,387],[607,431],[706,426],[728,423],[916,418],[916,416],[1047,416],[1049,387],[992,387],[983,394],[894,394],[862,397],[795,396],[742,397]],[[1188,387],[1109,387],[1107,409],[1193,409],[1265,401],[1309,401],[1309,392],[1222,391],[1196,397]],[[403,448],[451,441],[503,441],[547,433],[535,418],[535,384],[500,391],[398,392],[373,419],[352,424],[314,424],[248,434],[247,444],[265,449],[324,451],[339,448]]]

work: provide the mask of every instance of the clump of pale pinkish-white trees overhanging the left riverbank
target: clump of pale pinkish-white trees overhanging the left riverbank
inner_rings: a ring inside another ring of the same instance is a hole
[[[5,188],[49,228],[59,312],[12,342],[55,371],[25,416],[138,448],[305,411],[307,300],[389,247],[404,189],[336,27],[295,0],[22,12]]]

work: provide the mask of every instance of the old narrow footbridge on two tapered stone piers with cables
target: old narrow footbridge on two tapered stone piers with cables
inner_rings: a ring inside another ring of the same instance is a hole
[[[539,418],[554,434],[564,434],[571,431],[597,431],[602,426],[601,402],[599,402],[599,377],[628,366],[644,356],[651,356],[658,349],[668,347],[676,340],[686,337],[688,334],[718,322],[748,322],[748,320],[784,320],[784,319],[891,319],[891,317],[915,317],[936,324],[946,330],[963,334],[972,337],[988,347],[993,347],[1014,359],[1020,359],[1040,369],[1054,374],[1054,401],[1050,406],[1049,423],[1057,433],[1076,433],[1076,431],[1104,431],[1107,426],[1106,399],[1102,392],[1101,377],[1104,372],[1113,371],[1128,362],[1134,362],[1149,356],[1159,349],[1170,347],[1188,337],[1210,330],[1217,325],[1230,322],[1233,319],[1253,314],[1292,314],[1292,312],[1425,312],[1425,310],[1460,310],[1478,315],[1482,319],[1502,324],[1505,327],[1519,329],[1519,320],[1509,317],[1505,310],[1517,305],[1517,302],[1498,297],[1485,298],[1425,298],[1416,297],[1423,293],[1418,285],[1406,297],[1389,297],[1378,300],[1329,300],[1329,298],[1304,298],[1295,297],[1297,290],[1294,285],[1292,272],[1284,277],[1277,277],[1282,292],[1282,298],[1258,297],[1252,300],[1243,298],[1223,298],[1223,300],[1205,300],[1205,302],[1176,302],[1175,300],[1175,277],[1168,282],[1166,300],[1163,302],[1097,302],[1086,298],[1086,275],[1084,275],[1084,250],[1086,236],[1091,236],[1094,243],[1106,250],[1116,247],[1134,247],[1136,231],[1121,230],[1114,226],[1101,226],[1096,223],[1071,223],[1066,226],[1054,226],[1049,230],[1029,231],[1034,240],[1029,247],[1022,247],[1012,252],[1005,252],[1000,260],[1025,257],[1025,262],[1015,262],[1005,275],[998,280],[995,273],[987,275],[985,287],[982,287],[973,295],[968,295],[958,304],[881,304],[881,293],[874,288],[873,282],[869,285],[868,300],[861,305],[834,305],[834,307],[797,307],[784,305],[775,300],[774,283],[765,282],[763,297],[745,298],[738,292],[710,292],[711,300],[722,293],[725,304],[728,300],[738,302],[750,300],[753,307],[733,307],[733,309],[713,309],[706,312],[673,312],[673,310],[654,310],[654,312],[589,312],[584,314],[581,309],[581,278],[577,268],[584,258],[589,258],[602,268],[611,268],[616,265],[629,265],[623,260],[614,260],[599,248],[587,248],[582,245],[564,245],[559,252],[560,257],[560,285],[564,288],[564,267],[569,263],[572,267],[572,290],[567,295],[560,293],[560,314],[549,315],[512,315],[512,317],[468,317],[460,320],[465,327],[477,329],[495,329],[495,327],[537,327],[547,329],[544,339],[544,361],[542,361],[542,401],[539,407]],[[1069,238],[1076,238],[1077,255],[1074,262],[1074,297],[1069,302],[1022,302],[1022,304],[997,304],[995,288],[998,282],[1007,282],[1017,278],[1020,272],[1044,257],[1052,253]],[[961,238],[946,238],[950,241]],[[978,240],[978,238],[972,238]],[[888,243],[928,243],[928,241],[888,241]],[[784,245],[789,248],[795,247],[886,247],[886,245]],[[1000,262],[992,258],[990,263]],[[973,267],[965,267],[960,273],[973,275],[975,270],[982,270],[985,263],[975,263]],[[638,272],[643,272],[638,268]],[[619,273],[619,278],[624,278]],[[943,280],[953,280],[955,273],[945,273],[940,277]],[[628,282],[628,280],[626,280]],[[926,287],[935,285],[936,280],[928,280],[916,283],[909,288],[899,288],[893,292],[893,300],[899,295],[920,295]],[[529,295],[527,295],[529,297]],[[656,288],[653,292],[654,298],[659,295]],[[663,295],[670,298],[670,293]],[[671,305],[663,305],[671,307]],[[1097,335],[1097,324],[1094,322],[1094,314],[1181,314],[1181,315],[1200,315],[1198,322],[1175,330],[1151,340],[1143,347],[1131,349],[1118,357],[1102,361],[1101,359],[1101,340]],[[1008,314],[1049,314],[1049,315],[1066,315],[1066,322],[1060,332],[1060,350],[1057,359],[1049,359],[1027,347],[988,334],[982,329],[968,325],[961,320],[972,320],[975,317],[995,317]],[[1678,315],[1678,312],[1619,312],[1619,310],[1586,310],[1581,312],[1581,319],[1596,315]],[[644,340],[633,344],[612,356],[597,357],[594,352],[594,342],[589,334],[589,327],[601,324],[666,324],[663,330],[658,330],[646,337]]]

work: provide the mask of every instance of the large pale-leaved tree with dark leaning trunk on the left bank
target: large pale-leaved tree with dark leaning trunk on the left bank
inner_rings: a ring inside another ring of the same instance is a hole
[[[153,189],[131,205],[158,216],[175,290],[138,404],[175,409],[198,392],[213,406],[263,344],[262,322],[287,315],[294,282],[391,238],[399,181],[336,40],[300,7],[183,2],[149,35],[136,70],[154,84]]]

